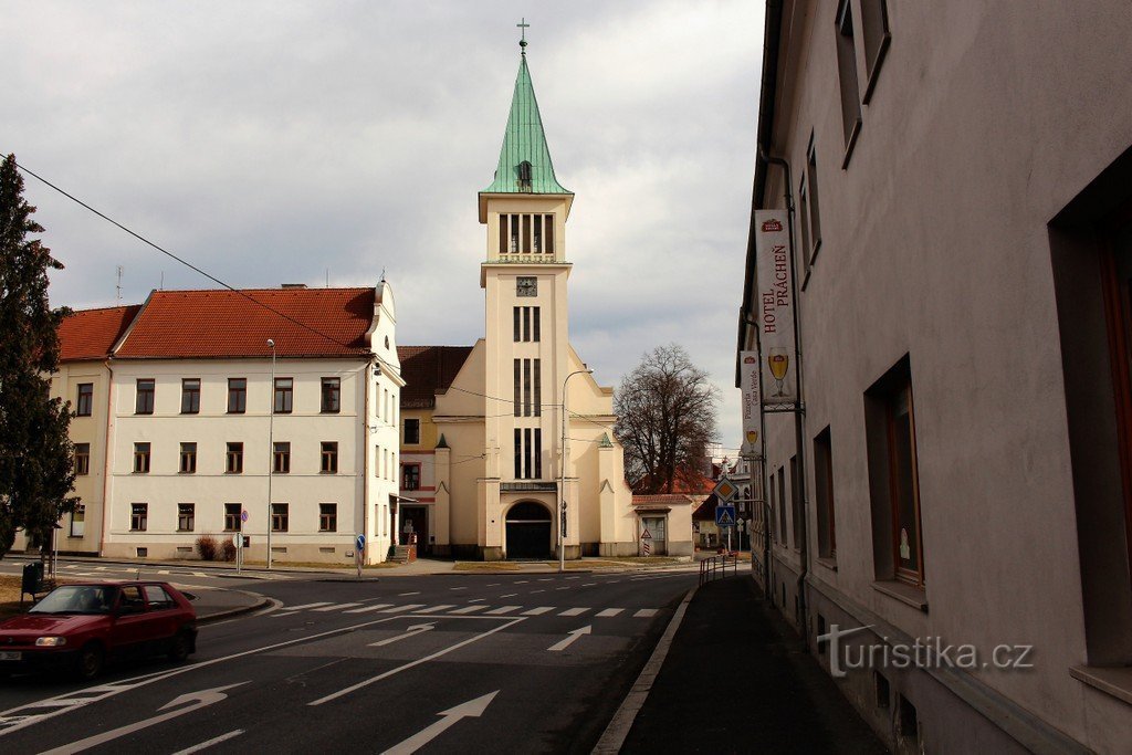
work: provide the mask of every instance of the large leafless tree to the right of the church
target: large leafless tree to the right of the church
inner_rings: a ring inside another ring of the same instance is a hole
[[[658,346],[621,378],[614,431],[634,492],[672,492],[700,475],[715,436],[719,388],[683,346]]]

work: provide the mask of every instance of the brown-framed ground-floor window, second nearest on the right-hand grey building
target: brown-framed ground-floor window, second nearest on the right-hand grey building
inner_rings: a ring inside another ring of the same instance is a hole
[[[907,355],[865,393],[865,409],[877,577],[923,589],[916,420]]]

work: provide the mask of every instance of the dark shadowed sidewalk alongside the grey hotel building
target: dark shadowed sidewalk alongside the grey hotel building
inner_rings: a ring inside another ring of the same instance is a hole
[[[620,752],[887,750],[740,573],[686,604]]]

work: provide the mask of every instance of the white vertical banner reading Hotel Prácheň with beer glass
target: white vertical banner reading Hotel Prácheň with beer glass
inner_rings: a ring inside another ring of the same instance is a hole
[[[758,341],[762,349],[763,405],[794,404],[798,380],[794,351],[794,281],[784,209],[755,212],[758,282]]]

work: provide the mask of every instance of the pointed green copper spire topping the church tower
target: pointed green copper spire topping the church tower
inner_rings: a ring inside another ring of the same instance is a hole
[[[526,68],[525,46],[518,62],[499,166],[491,186],[480,194],[573,194],[555,178],[547,136],[542,132],[539,103],[534,98],[534,85]]]

